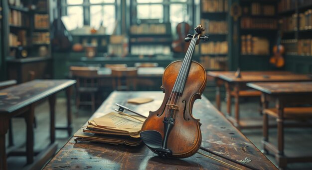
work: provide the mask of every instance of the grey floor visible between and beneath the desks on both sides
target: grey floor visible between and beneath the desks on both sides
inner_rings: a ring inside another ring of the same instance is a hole
[[[212,101],[213,102],[213,101]],[[112,106],[113,107],[113,106]],[[222,103],[222,111],[226,111],[226,105]],[[258,109],[259,102],[242,102],[240,110],[242,117],[253,116],[261,117],[259,115]],[[56,104],[56,124],[65,125],[66,119],[66,102],[63,98],[57,99]],[[92,115],[91,109],[82,108],[77,112],[73,107],[73,132],[76,132]],[[35,150],[44,148],[49,143],[49,107],[47,102],[43,102],[38,105],[35,109],[35,115],[37,119],[37,128],[34,130],[34,140],[35,140]],[[261,148],[261,139],[262,139],[262,130],[261,129],[244,129],[242,131],[247,138],[250,139],[256,147]],[[276,134],[275,129],[270,130],[270,139],[276,143]],[[312,128],[300,129],[300,128],[291,128],[286,130],[286,154],[288,153],[298,153],[298,154],[310,154],[312,155]],[[25,146],[25,122],[22,118],[13,119],[13,135],[14,135],[14,144],[20,150],[24,150]],[[57,131],[56,132],[56,141],[58,142],[58,148],[60,149],[69,139],[66,131]],[[275,160],[272,156],[267,156],[274,164]],[[22,168],[26,163],[25,157],[9,157],[8,168],[9,170],[18,170]],[[40,169],[40,168],[38,168]],[[311,170],[312,163],[305,164],[289,164],[289,170]]]

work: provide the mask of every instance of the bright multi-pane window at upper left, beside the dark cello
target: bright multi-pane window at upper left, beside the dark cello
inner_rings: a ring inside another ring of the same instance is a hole
[[[106,34],[113,33],[116,0],[62,0],[62,3],[62,20],[69,31],[89,25],[95,29],[103,26]]]

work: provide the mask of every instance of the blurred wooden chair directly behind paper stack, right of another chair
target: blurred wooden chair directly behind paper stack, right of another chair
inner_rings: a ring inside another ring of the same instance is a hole
[[[112,84],[114,90],[137,90],[136,67],[114,68],[112,69]]]

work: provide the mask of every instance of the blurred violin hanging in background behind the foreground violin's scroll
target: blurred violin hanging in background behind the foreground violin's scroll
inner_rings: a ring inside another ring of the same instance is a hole
[[[176,25],[176,33],[178,34],[178,39],[174,40],[171,44],[172,50],[175,53],[186,53],[189,43],[185,43],[185,35],[190,30],[190,26],[186,22],[180,22]]]

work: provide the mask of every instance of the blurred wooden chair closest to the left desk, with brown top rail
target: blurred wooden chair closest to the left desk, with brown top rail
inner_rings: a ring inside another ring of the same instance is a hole
[[[70,71],[76,79],[76,107],[80,105],[90,105],[92,112],[95,111],[95,96],[99,92],[97,75],[100,67],[80,67],[71,66]],[[90,95],[90,101],[80,101],[81,94]]]

